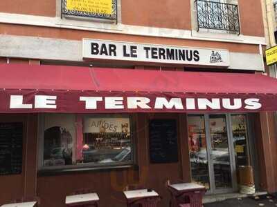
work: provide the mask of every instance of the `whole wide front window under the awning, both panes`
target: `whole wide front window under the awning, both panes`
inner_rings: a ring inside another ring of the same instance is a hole
[[[132,164],[128,116],[47,114],[42,119],[42,168]]]

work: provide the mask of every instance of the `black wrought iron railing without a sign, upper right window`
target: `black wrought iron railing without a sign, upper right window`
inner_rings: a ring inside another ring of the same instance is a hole
[[[224,30],[240,34],[238,5],[215,1],[196,0],[199,28]]]

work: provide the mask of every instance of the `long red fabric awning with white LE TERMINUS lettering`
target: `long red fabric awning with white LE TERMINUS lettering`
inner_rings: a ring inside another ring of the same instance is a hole
[[[277,80],[258,74],[0,66],[0,112],[272,111],[276,103]]]

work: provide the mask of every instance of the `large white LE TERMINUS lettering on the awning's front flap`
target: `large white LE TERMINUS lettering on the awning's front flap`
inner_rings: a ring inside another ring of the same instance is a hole
[[[24,103],[23,95],[10,95],[10,109],[57,109],[57,96],[35,95],[34,104]],[[86,110],[258,110],[260,99],[249,98],[170,98],[166,97],[79,97]],[[68,101],[66,101],[68,102]],[[69,103],[75,105],[74,102]]]

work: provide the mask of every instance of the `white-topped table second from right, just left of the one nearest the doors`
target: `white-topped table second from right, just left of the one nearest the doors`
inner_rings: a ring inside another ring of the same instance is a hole
[[[132,207],[141,204],[142,207],[156,207],[161,200],[159,194],[148,189],[128,190],[123,192],[127,199],[127,206]]]

